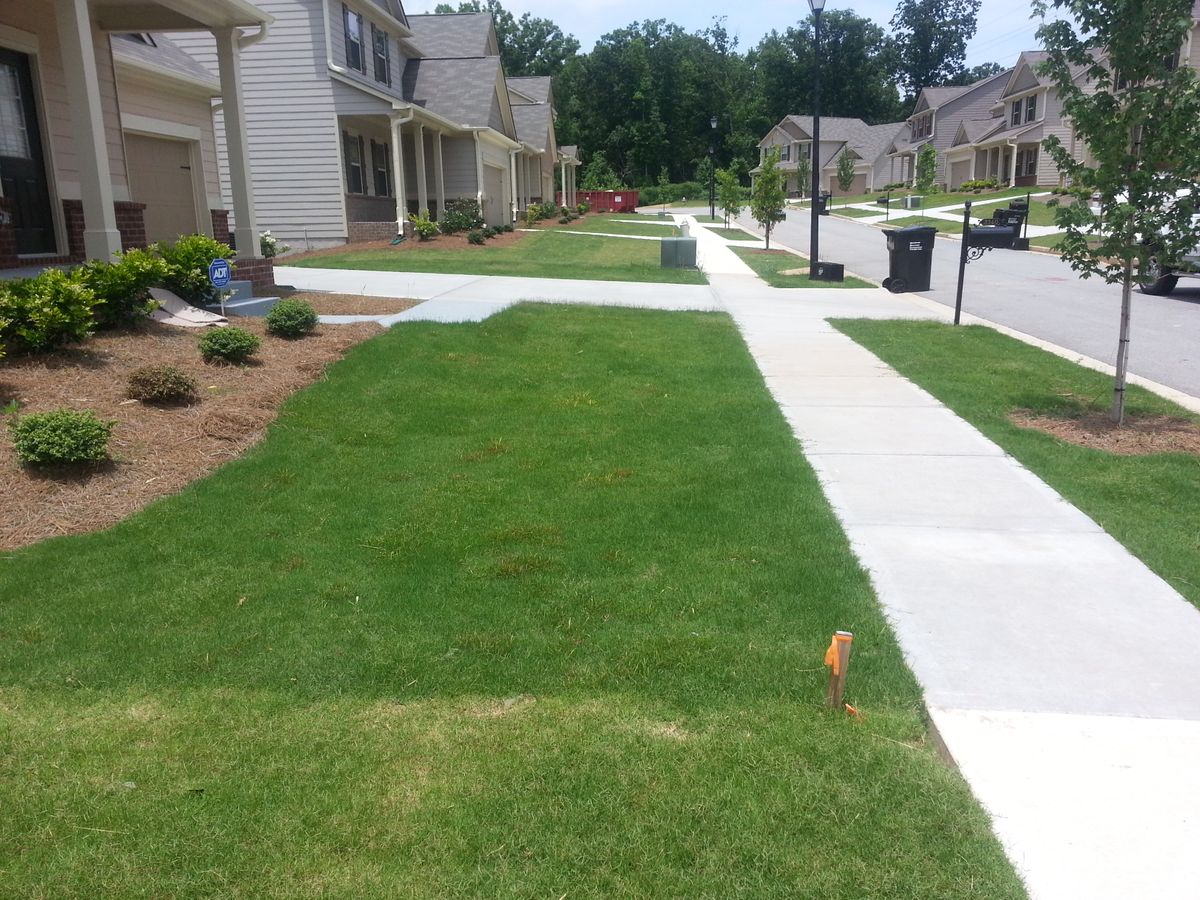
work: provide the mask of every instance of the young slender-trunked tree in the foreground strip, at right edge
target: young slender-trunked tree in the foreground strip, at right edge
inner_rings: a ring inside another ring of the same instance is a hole
[[[1050,7],[1069,18],[1048,22]],[[1200,85],[1177,65],[1192,28],[1192,0],[1034,0],[1042,73],[1062,100],[1093,163],[1057,136],[1045,151],[1078,188],[1099,197],[1061,205],[1062,258],[1085,278],[1121,284],[1112,421],[1124,421],[1133,284],[1162,274],[1200,242]],[[1073,20],[1072,20],[1073,19]],[[1086,78],[1081,77],[1086,73]]]

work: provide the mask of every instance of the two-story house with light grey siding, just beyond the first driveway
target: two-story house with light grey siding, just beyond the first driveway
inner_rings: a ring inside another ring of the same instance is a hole
[[[408,16],[400,0],[262,6],[275,22],[245,84],[263,227],[318,247],[391,238],[454,198],[478,200],[490,224],[528,202],[554,148],[518,137],[491,16]],[[210,41],[181,43],[214,70]]]

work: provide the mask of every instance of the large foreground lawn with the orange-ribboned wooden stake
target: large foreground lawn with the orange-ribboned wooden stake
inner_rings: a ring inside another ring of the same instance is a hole
[[[0,578],[11,896],[1024,895],[724,316],[398,326]]]

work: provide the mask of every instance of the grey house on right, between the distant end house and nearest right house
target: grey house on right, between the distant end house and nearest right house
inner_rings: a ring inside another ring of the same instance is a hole
[[[946,152],[954,145],[959,126],[966,120],[986,120],[991,116],[991,109],[1013,71],[1010,68],[982,78],[974,84],[922,90],[912,115],[888,148],[888,156],[893,163],[892,178],[888,180],[912,181],[917,172],[917,156],[925,146],[932,146],[937,151],[937,173],[934,184],[944,186],[949,178]]]

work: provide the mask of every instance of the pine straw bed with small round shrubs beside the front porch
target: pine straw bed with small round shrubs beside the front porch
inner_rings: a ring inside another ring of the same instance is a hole
[[[17,400],[22,414],[89,409],[116,421],[112,462],[77,470],[23,468],[8,428],[0,427],[0,548],[107,528],[182,490],[258,443],[288,396],[380,331],[373,323],[322,325],[308,337],[286,341],[266,335],[263,319],[235,323],[263,336],[247,366],[208,365],[196,349],[202,330],[154,322],[55,353],[0,360],[0,404]],[[131,371],[166,364],[197,379],[199,401],[155,407],[126,400]]]

